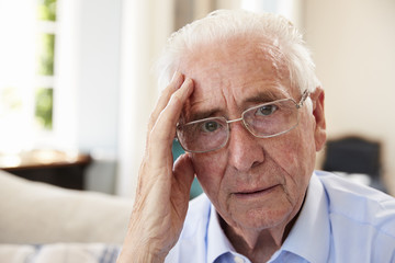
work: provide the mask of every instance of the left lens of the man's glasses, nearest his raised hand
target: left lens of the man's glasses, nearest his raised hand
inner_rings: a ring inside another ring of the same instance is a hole
[[[223,147],[228,138],[228,127],[223,117],[205,118],[179,125],[177,136],[187,151],[206,152]]]

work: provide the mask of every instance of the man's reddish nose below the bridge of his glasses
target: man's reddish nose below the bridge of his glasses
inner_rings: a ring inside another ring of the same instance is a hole
[[[264,150],[258,140],[262,139],[250,134],[241,122],[233,123],[228,141],[229,164],[240,172],[247,172],[262,163]]]

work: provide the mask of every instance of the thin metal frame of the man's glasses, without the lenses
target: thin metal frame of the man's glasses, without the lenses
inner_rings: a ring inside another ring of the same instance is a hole
[[[296,122],[295,125],[293,125],[292,127],[290,127],[290,128],[286,129],[286,130],[283,130],[283,132],[280,132],[280,133],[276,133],[276,134],[273,134],[273,135],[263,135],[263,136],[256,135],[256,134],[249,128],[249,125],[246,123],[244,116],[245,116],[246,112],[249,112],[250,110],[259,108],[259,107],[264,106],[264,105],[268,105],[268,104],[272,104],[272,103],[275,103],[275,102],[283,102],[283,101],[292,101],[292,102],[295,104],[296,110],[300,110],[300,108],[302,108],[304,102],[306,101],[306,99],[307,99],[308,96],[309,96],[309,91],[308,91],[308,90],[305,90],[305,91],[302,93],[302,98],[301,98],[301,100],[300,100],[298,103],[296,103],[296,101],[295,101],[294,99],[292,99],[292,98],[281,99],[281,100],[276,100],[276,101],[272,101],[272,102],[262,103],[262,104],[252,106],[252,107],[250,107],[250,108],[247,108],[246,111],[244,111],[244,112],[241,113],[241,117],[235,118],[235,119],[226,119],[224,116],[219,116],[219,117],[208,117],[208,118],[196,119],[196,121],[189,122],[189,123],[185,123],[185,124],[182,124],[182,125],[181,125],[181,124],[178,124],[178,125],[177,125],[177,137],[176,137],[176,139],[180,142],[182,149],[184,149],[185,151],[188,151],[188,152],[193,152],[193,153],[204,153],[204,152],[210,152],[210,151],[218,150],[218,149],[221,149],[221,148],[223,148],[224,146],[227,145],[227,142],[228,142],[228,140],[229,140],[229,135],[230,135],[229,124],[232,124],[232,123],[241,122],[242,125],[246,127],[246,129],[247,129],[253,137],[257,137],[257,138],[272,138],[272,137],[275,137],[275,136],[279,136],[279,135],[282,135],[282,134],[286,134],[287,132],[294,129],[294,128],[298,125],[298,123],[300,123],[298,112],[297,112],[297,122]],[[188,149],[185,149],[185,147],[181,144],[180,139],[178,139],[178,130],[180,130],[180,127],[181,127],[181,126],[200,123],[200,122],[202,122],[202,121],[218,119],[218,118],[222,118],[222,119],[226,123],[227,136],[226,136],[226,140],[224,140],[224,144],[219,145],[219,146],[216,147],[215,149],[204,150],[204,151],[188,150]]]

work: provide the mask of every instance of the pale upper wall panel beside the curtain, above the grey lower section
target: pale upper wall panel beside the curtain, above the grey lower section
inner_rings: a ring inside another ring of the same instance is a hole
[[[78,145],[117,149],[121,0],[81,1]]]

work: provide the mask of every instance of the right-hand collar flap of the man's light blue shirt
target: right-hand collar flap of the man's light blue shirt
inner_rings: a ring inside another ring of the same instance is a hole
[[[280,251],[274,253],[272,259],[282,251],[287,251],[308,262],[327,262],[329,247],[328,203],[324,186],[314,173],[302,211]]]

